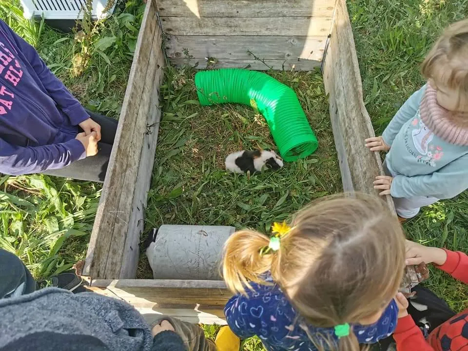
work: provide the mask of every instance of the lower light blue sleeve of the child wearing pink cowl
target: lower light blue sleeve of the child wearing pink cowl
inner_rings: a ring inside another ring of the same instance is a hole
[[[468,154],[429,175],[395,176],[391,182],[390,195],[405,198],[444,195],[444,198],[451,198],[466,189],[468,189]]]

